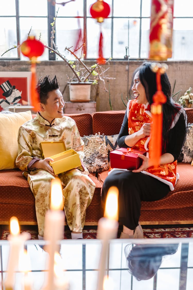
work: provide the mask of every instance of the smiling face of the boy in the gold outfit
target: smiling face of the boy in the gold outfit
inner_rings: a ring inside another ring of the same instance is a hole
[[[48,95],[47,103],[41,103],[40,111],[42,117],[51,123],[53,119],[64,116],[64,100],[59,89],[49,92]]]

